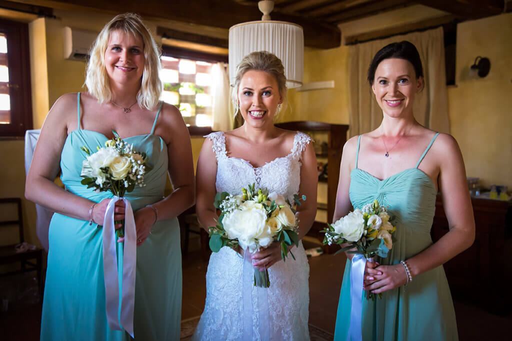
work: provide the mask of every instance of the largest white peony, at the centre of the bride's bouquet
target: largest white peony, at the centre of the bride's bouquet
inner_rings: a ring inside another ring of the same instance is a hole
[[[228,238],[238,239],[240,246],[243,249],[249,248],[250,252],[255,252],[259,246],[266,247],[273,241],[272,230],[266,224],[267,212],[258,208],[258,205],[261,206],[252,201],[244,209],[236,210],[222,219]]]

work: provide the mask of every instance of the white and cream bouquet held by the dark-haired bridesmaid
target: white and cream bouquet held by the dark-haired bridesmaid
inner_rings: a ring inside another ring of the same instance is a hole
[[[333,224],[328,224],[322,231],[325,233],[324,244],[348,244],[338,252],[360,254],[365,261],[373,262],[376,256],[386,258],[393,247],[393,234],[396,231],[393,220],[394,217],[389,216],[386,208],[374,200],[362,210],[355,209]],[[374,300],[375,294],[367,292],[367,299],[370,298]]]

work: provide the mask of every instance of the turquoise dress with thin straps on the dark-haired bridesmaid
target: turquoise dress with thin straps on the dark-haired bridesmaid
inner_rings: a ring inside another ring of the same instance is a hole
[[[432,245],[430,229],[436,209],[436,187],[418,169],[437,133],[421,155],[415,168],[379,180],[356,167],[350,177],[350,200],[354,208],[378,200],[396,216],[396,241],[388,257],[380,263],[394,265]],[[350,324],[350,271],[347,260],[339,297],[334,339],[347,340]],[[446,341],[457,340],[457,324],[452,295],[442,266],[413,278],[407,287],[382,294],[382,299],[367,301],[363,292],[362,339],[365,341]]]

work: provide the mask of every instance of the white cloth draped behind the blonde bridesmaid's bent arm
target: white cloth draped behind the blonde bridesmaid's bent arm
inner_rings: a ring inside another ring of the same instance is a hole
[[[39,138],[41,129],[32,129],[25,132],[25,172],[28,174],[32,156],[34,155],[35,145]],[[50,220],[52,220],[53,211],[48,210],[37,203],[35,204],[37,220],[35,223],[36,234],[42,247],[48,252],[48,229],[50,228]]]

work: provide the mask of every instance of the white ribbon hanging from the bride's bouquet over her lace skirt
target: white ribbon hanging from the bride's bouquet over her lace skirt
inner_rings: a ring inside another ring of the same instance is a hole
[[[247,248],[244,252],[244,265],[242,268],[242,328],[244,340],[254,339],[252,336],[252,312],[254,310],[252,302],[252,287],[254,286],[254,269],[252,267],[252,254]],[[260,317],[260,324],[258,332],[261,341],[270,340],[270,329],[268,319],[268,288],[257,287],[258,296],[258,313]]]

